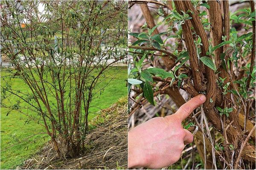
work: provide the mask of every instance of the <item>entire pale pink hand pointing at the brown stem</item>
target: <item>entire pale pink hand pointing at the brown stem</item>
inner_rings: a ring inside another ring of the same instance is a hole
[[[198,95],[183,104],[175,114],[152,118],[128,132],[128,167],[160,169],[180,159],[193,135],[181,122],[206,100]]]

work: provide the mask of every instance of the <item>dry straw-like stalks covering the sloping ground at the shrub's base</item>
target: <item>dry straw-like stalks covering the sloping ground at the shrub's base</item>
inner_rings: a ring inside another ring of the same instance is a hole
[[[117,104],[103,109],[105,121],[90,124],[96,126],[86,137],[87,150],[77,158],[55,157],[47,144],[38,155],[24,162],[21,169],[127,169],[127,99],[121,98]]]

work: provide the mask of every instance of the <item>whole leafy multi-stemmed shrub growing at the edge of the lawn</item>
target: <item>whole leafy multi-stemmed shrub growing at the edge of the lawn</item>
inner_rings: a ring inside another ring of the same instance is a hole
[[[126,56],[127,3],[1,1],[1,15],[1,55],[10,62],[2,69],[8,75],[2,77],[1,107],[36,119],[58,156],[79,155],[90,102],[104,89],[101,82],[113,78],[105,72]],[[22,79],[27,92],[12,89],[12,78]],[[12,96],[19,100],[3,102]]]

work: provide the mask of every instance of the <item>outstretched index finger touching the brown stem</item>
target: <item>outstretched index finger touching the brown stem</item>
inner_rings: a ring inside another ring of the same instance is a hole
[[[181,121],[183,121],[192,113],[194,109],[203,104],[205,100],[206,97],[204,95],[197,95],[183,104],[173,115],[177,116]]]

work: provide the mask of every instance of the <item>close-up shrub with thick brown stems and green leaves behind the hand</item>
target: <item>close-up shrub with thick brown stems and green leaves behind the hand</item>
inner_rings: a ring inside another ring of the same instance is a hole
[[[145,121],[139,108],[148,102],[159,109],[150,107],[147,119],[170,114],[166,94],[177,107],[183,96],[206,95],[183,122],[199,127],[195,144],[205,169],[255,167],[255,9],[247,3],[230,13],[229,1],[129,1],[129,9],[140,5],[148,27],[130,33],[137,40],[129,46],[129,125]]]

